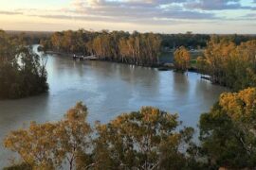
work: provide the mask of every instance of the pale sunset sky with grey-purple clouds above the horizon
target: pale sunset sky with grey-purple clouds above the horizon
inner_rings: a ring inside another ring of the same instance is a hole
[[[256,34],[256,0],[0,0],[0,29]]]

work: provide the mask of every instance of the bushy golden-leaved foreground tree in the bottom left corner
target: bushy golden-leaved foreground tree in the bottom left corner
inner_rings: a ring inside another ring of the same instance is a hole
[[[32,167],[54,169],[61,165],[60,157],[56,154],[56,126],[51,123],[37,125],[32,122],[28,129],[11,131],[4,144]]]

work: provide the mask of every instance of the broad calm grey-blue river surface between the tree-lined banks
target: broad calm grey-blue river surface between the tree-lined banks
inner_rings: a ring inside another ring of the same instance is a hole
[[[0,101],[0,140],[24,123],[60,120],[77,101],[89,109],[88,121],[105,123],[121,112],[155,106],[178,112],[185,126],[196,127],[200,113],[210,109],[225,88],[200,76],[158,72],[151,68],[101,62],[74,61],[50,56],[47,63],[49,93],[26,99]],[[0,164],[9,151],[0,146]],[[0,167],[1,167],[0,165]]]

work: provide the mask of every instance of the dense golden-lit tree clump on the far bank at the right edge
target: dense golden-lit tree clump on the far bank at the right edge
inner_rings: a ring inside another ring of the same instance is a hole
[[[210,75],[213,83],[234,91],[256,86],[256,40],[236,45],[213,36],[204,57],[198,61],[198,70]]]

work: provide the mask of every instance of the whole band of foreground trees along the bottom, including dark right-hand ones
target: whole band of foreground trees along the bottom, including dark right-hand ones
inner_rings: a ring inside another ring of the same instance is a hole
[[[11,131],[4,144],[23,163],[7,169],[254,169],[255,112],[256,88],[221,94],[201,115],[196,145],[177,114],[143,107],[92,128],[78,103],[59,122]]]

